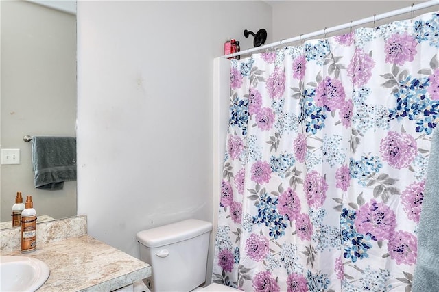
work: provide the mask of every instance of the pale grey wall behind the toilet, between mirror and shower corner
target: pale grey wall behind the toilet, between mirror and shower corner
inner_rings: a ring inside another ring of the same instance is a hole
[[[261,1],[78,2],[78,214],[91,236],[139,257],[140,230],[212,221],[213,59],[228,37],[247,49],[244,29],[272,31],[271,14]]]

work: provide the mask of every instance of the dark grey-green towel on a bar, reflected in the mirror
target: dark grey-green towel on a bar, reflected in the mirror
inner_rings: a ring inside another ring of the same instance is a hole
[[[64,181],[76,180],[75,137],[32,137],[34,185],[38,189],[57,191]]]

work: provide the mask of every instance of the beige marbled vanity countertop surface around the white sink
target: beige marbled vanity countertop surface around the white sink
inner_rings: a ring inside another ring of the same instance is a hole
[[[112,291],[151,276],[151,265],[88,235],[9,255],[38,258],[49,265],[50,276],[38,292]]]

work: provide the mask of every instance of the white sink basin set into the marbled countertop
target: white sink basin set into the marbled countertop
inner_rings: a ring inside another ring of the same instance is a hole
[[[27,256],[0,256],[0,291],[36,291],[49,278],[43,261]]]

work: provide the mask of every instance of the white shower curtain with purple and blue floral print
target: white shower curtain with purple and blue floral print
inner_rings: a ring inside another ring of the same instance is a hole
[[[411,290],[438,34],[430,12],[231,60],[213,282]]]

